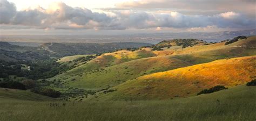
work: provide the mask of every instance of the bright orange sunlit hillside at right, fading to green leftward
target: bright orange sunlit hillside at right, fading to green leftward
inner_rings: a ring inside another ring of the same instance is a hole
[[[256,56],[247,56],[141,76],[114,87],[117,91],[98,98],[186,97],[217,85],[232,87],[255,78]]]

